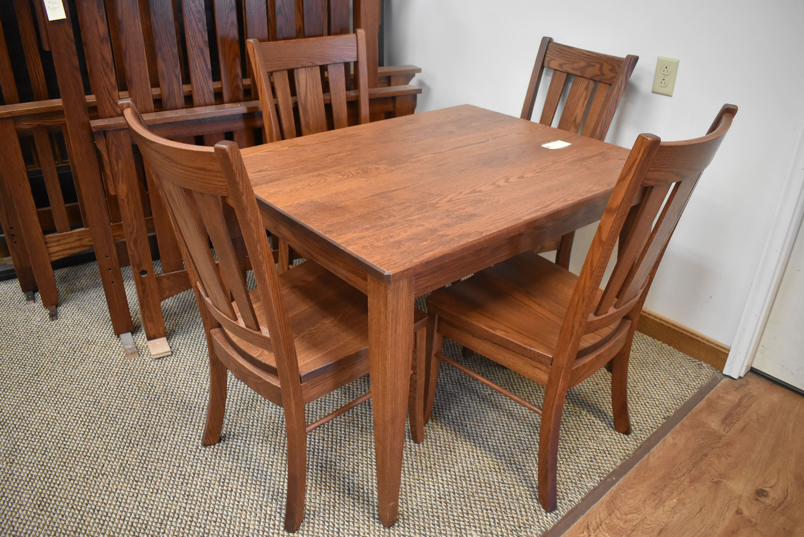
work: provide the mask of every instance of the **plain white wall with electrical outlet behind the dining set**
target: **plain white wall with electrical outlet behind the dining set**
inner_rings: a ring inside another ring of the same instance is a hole
[[[804,128],[802,0],[385,0],[384,9],[386,64],[422,68],[417,112],[469,103],[519,116],[544,35],[640,57],[606,139],[613,144],[630,147],[640,132],[702,136],[721,104],[739,106],[646,301],[732,343]],[[680,60],[672,97],[650,92],[658,55]],[[575,262],[592,233],[578,234]]]

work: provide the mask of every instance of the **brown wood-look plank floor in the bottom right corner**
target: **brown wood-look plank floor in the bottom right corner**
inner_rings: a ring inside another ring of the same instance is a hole
[[[804,535],[804,397],[722,380],[564,535]]]

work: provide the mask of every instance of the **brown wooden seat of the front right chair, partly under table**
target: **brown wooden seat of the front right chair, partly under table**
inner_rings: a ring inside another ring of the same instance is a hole
[[[449,332],[467,332],[549,365],[577,279],[556,263],[527,252],[434,291],[427,307],[438,315],[440,332],[448,325]],[[579,355],[596,348],[616,326],[584,336]]]

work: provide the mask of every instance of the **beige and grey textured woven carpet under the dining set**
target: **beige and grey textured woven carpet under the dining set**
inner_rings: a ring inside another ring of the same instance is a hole
[[[207,358],[192,293],[163,303],[173,355],[151,360],[137,327],[141,356],[127,360],[96,264],[56,271],[56,281],[55,323],[15,280],[0,282],[0,535],[284,534],[281,409],[230,377],[224,438],[200,445]],[[537,384],[481,356],[466,361],[540,403]],[[640,334],[632,364],[630,436],[613,430],[607,372],[572,389],[555,512],[537,501],[539,417],[444,366],[427,438],[405,444],[396,526],[377,515],[369,402],[310,434],[297,535],[539,535],[712,374]],[[308,421],[367,386],[308,405]]]

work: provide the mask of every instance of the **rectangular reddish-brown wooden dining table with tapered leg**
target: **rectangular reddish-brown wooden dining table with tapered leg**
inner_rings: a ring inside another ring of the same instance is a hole
[[[571,145],[542,147],[555,140]],[[242,150],[266,229],[368,296],[384,525],[399,511],[414,299],[599,220],[628,153],[470,105]]]

